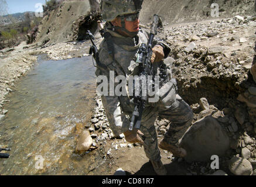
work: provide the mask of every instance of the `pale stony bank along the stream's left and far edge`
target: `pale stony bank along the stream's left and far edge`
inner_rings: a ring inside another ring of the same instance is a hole
[[[101,39],[98,38],[98,42]],[[6,96],[15,90],[15,82],[26,75],[37,61],[37,55],[46,54],[49,60],[64,60],[89,56],[89,41],[57,43],[37,47],[24,42],[11,49],[0,51],[0,119],[4,118]]]

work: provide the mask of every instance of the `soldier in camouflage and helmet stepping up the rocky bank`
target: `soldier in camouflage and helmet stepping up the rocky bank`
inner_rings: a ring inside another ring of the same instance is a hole
[[[110,72],[115,76],[129,77],[136,72],[135,56],[142,43],[148,42],[148,35],[139,29],[139,11],[143,0],[103,0],[101,12],[105,23],[104,40],[98,50],[97,76],[104,75],[110,80]],[[152,49],[151,63],[154,71],[159,73],[165,67],[163,58],[168,57],[170,48],[166,44],[155,41]],[[169,71],[170,72],[170,71]],[[98,84],[99,85],[99,84]],[[172,85],[171,87],[168,85]],[[109,89],[110,89],[110,85]],[[147,103],[142,114],[141,128],[129,131],[129,117],[134,104],[129,94],[125,96],[102,95],[105,113],[114,134],[124,133],[125,139],[131,143],[143,145],[146,157],[152,163],[158,175],[166,175],[159,148],[171,151],[176,157],[185,157],[186,150],[179,147],[179,139],[183,136],[193,119],[189,105],[178,94],[175,84],[163,85],[160,89],[162,97],[158,102]],[[159,142],[155,129],[156,117],[163,117],[171,122],[168,132]]]

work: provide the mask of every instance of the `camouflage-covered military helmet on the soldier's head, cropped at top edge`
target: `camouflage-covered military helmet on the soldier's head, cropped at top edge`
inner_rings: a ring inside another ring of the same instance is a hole
[[[136,13],[141,11],[144,0],[102,0],[101,12],[103,19],[111,22],[119,15]]]

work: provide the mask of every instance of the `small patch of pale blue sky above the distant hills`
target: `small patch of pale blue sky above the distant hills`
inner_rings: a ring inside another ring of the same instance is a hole
[[[45,4],[45,0],[5,0],[5,1],[8,4],[9,14],[18,13],[18,12],[22,13],[26,11],[43,12],[42,4]]]

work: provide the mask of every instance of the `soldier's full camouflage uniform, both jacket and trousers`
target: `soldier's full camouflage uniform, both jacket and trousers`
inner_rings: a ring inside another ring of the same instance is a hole
[[[107,42],[104,39],[100,44],[98,51],[99,61],[105,67],[98,66],[96,75],[105,75],[110,78],[110,71],[115,72],[115,76],[132,75],[136,68],[131,68],[134,64],[134,56],[142,43],[148,42],[148,35],[139,30],[135,39],[123,37],[112,30],[107,30],[114,43],[114,58],[108,53]],[[168,53],[169,54],[169,53]],[[168,57],[165,53],[165,58]],[[155,72],[158,72],[163,63],[153,63]],[[107,68],[106,68],[107,67]],[[167,86],[168,87],[168,86]],[[164,88],[164,89],[162,89]],[[142,115],[141,131],[144,133],[144,150],[146,156],[153,161],[161,159],[158,148],[158,140],[155,129],[156,117],[163,117],[171,122],[168,133],[165,134],[165,140],[170,144],[178,144],[179,138],[185,133],[192,122],[193,113],[189,105],[176,94],[175,86],[172,89],[163,86],[160,92],[166,92],[165,98],[160,98],[158,102],[147,103]],[[167,89],[167,90],[165,90]],[[129,101],[128,96],[101,96],[105,113],[114,134],[124,133],[129,128],[129,117],[134,109],[133,103]],[[167,101],[166,101],[167,98]]]

